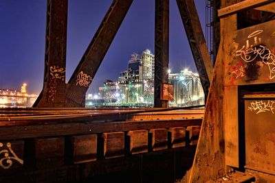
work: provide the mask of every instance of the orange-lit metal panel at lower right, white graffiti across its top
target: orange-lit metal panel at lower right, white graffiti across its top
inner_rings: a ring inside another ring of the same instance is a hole
[[[245,168],[275,174],[275,99],[245,100]]]

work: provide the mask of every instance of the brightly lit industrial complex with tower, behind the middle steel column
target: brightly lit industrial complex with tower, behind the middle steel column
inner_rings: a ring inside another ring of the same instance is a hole
[[[153,107],[154,56],[150,50],[139,56],[133,53],[128,69],[120,73],[117,82],[106,80],[96,95],[87,95],[86,106]],[[170,73],[169,83],[174,86],[174,99],[169,106],[197,106],[204,104],[204,93],[197,73],[184,69]]]

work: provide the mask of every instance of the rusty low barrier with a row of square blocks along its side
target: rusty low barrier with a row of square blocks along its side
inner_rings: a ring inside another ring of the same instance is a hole
[[[150,113],[151,120],[140,119],[137,114],[125,121],[122,120],[125,115],[130,118],[128,112],[94,117],[89,114],[2,117],[0,151],[6,154],[0,154],[0,175],[7,177],[9,172],[18,171],[44,175],[45,171],[39,170],[56,168],[67,175],[68,166],[76,168],[77,164],[87,162],[197,144],[201,118],[188,118],[186,114],[181,119],[153,119]]]

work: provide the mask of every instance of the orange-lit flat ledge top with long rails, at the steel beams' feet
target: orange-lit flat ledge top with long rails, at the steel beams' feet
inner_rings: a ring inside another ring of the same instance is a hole
[[[0,110],[0,126],[62,122],[62,121],[126,121],[126,120],[167,120],[202,119],[204,109],[184,110],[175,108],[27,108]]]

